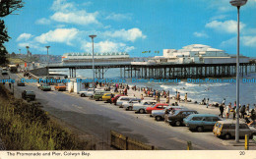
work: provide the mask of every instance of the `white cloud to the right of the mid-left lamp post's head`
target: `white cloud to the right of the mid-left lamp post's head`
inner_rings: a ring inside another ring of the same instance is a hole
[[[115,30],[113,32],[105,31],[103,34],[105,36],[122,38],[123,40],[132,41],[132,42],[134,42],[138,38],[147,37],[142,33],[142,31],[139,28],[136,28],[136,27],[128,30],[125,30],[125,29]]]

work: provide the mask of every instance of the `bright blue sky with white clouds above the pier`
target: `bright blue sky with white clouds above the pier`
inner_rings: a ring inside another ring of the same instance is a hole
[[[126,51],[131,56],[161,55],[200,43],[236,53],[236,8],[229,0],[24,0],[25,7],[5,18],[12,39],[9,52],[62,55]],[[256,57],[256,0],[241,7],[241,46]],[[151,53],[143,54],[143,51]],[[160,54],[155,54],[160,51]]]

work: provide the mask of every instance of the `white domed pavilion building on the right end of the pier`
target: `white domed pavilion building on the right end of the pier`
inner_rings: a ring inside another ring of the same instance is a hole
[[[182,49],[163,49],[163,56],[156,56],[149,63],[157,64],[224,64],[236,63],[236,56],[224,50],[203,44],[192,44]],[[240,63],[249,63],[249,58],[240,56]]]

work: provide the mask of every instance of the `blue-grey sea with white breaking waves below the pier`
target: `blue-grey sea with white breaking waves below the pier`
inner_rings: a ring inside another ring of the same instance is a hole
[[[64,74],[69,75],[68,69],[50,70],[50,74]],[[77,78],[93,79],[93,70],[77,70]],[[120,78],[120,69],[108,69],[104,73],[104,79],[124,79]],[[248,82],[244,82],[245,79]],[[141,79],[143,80],[143,79]],[[199,80],[199,79],[198,79]],[[205,80],[205,79],[201,79]],[[176,91],[180,92],[181,97],[185,93],[188,94],[188,99],[192,102],[201,102],[204,98],[208,99],[210,103],[221,103],[225,99],[225,104],[229,102],[232,104],[236,100],[236,82],[235,77],[223,79],[211,79],[210,81],[191,82],[189,79],[178,79],[179,82],[133,82],[132,79],[125,78],[125,83],[130,86],[152,87],[156,90],[169,91],[171,95],[175,95]],[[215,82],[214,82],[215,81]],[[222,81],[222,82],[221,82]],[[256,73],[251,73],[246,77],[239,79],[239,100],[241,105],[250,104],[250,108],[254,108],[256,104]]]

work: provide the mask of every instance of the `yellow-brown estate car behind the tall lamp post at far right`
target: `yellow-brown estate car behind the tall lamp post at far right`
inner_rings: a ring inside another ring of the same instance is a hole
[[[230,139],[235,136],[235,124],[233,120],[218,121],[214,127],[214,134],[218,137],[224,137],[225,139]],[[250,137],[256,135],[256,129],[254,127],[248,127],[247,124],[240,121],[239,122],[239,137],[244,137],[248,134]]]

